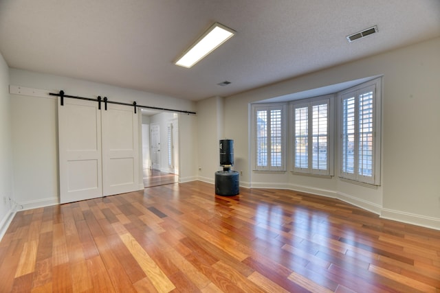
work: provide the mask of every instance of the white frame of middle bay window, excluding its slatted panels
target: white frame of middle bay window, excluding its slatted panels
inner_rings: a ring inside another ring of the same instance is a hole
[[[290,116],[292,121],[292,172],[300,174],[333,176],[334,175],[334,95],[322,95],[318,97],[310,97],[300,99],[290,103]],[[316,169],[313,167],[313,107],[327,104],[327,169]],[[307,167],[296,167],[296,108],[307,107],[308,113],[308,129],[307,129]]]

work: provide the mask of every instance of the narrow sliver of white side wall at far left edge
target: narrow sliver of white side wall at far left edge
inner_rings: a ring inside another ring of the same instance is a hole
[[[9,69],[0,54],[0,239],[12,220],[14,193],[12,187],[11,111]],[[11,200],[10,200],[11,199]]]

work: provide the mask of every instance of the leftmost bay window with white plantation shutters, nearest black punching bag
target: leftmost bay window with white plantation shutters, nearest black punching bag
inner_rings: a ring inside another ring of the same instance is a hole
[[[285,171],[285,106],[254,105],[255,169]]]

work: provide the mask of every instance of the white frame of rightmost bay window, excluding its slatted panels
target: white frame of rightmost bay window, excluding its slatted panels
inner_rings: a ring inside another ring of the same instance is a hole
[[[359,170],[360,160],[360,136],[362,131],[359,130],[360,112],[359,99],[360,95],[372,92],[372,131],[371,131],[371,176],[365,176]],[[353,142],[353,172],[344,172],[344,100],[355,98],[354,105],[354,142]],[[369,82],[364,82],[358,86],[353,86],[338,93],[338,156],[339,156],[339,177],[345,180],[351,180],[367,185],[379,186],[381,183],[381,141],[382,141],[382,78],[376,78]]]

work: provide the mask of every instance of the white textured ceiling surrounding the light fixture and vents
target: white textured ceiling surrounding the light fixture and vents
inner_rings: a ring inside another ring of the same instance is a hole
[[[236,35],[191,69],[174,65],[216,21]],[[0,0],[9,67],[194,101],[437,36],[440,0]]]

